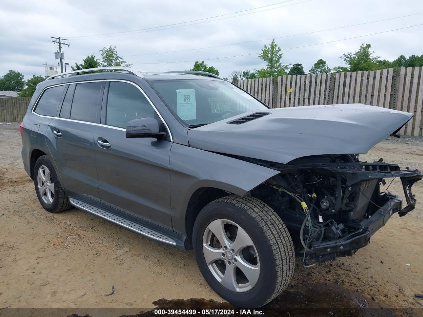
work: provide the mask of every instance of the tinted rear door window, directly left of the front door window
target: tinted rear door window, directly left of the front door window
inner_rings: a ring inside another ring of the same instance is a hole
[[[103,82],[77,84],[72,100],[71,119],[97,122]]]

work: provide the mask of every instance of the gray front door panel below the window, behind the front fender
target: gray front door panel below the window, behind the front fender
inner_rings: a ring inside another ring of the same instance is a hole
[[[169,156],[172,142],[126,138],[124,130],[96,127],[100,198],[134,216],[172,229]],[[97,143],[106,139],[110,148]]]

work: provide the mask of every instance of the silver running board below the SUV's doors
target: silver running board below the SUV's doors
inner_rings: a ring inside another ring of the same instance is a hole
[[[163,235],[160,232],[147,228],[141,224],[122,218],[106,210],[92,206],[90,204],[87,204],[86,202],[83,202],[75,198],[69,197],[69,202],[71,203],[72,206],[78,209],[82,209],[96,216],[99,216],[103,219],[109,220],[110,222],[116,223],[124,228],[127,228],[131,231],[144,235],[150,239],[157,240],[166,244],[176,245],[176,242],[173,239],[169,238],[166,235]]]

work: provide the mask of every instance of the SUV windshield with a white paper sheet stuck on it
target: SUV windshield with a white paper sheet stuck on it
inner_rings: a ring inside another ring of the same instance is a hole
[[[178,79],[149,82],[162,101],[190,128],[244,112],[267,109],[226,81]]]

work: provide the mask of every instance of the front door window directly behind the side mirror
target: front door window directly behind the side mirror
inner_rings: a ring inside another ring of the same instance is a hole
[[[106,124],[126,128],[128,121],[155,117],[155,111],[143,93],[134,85],[110,82],[107,97]]]

